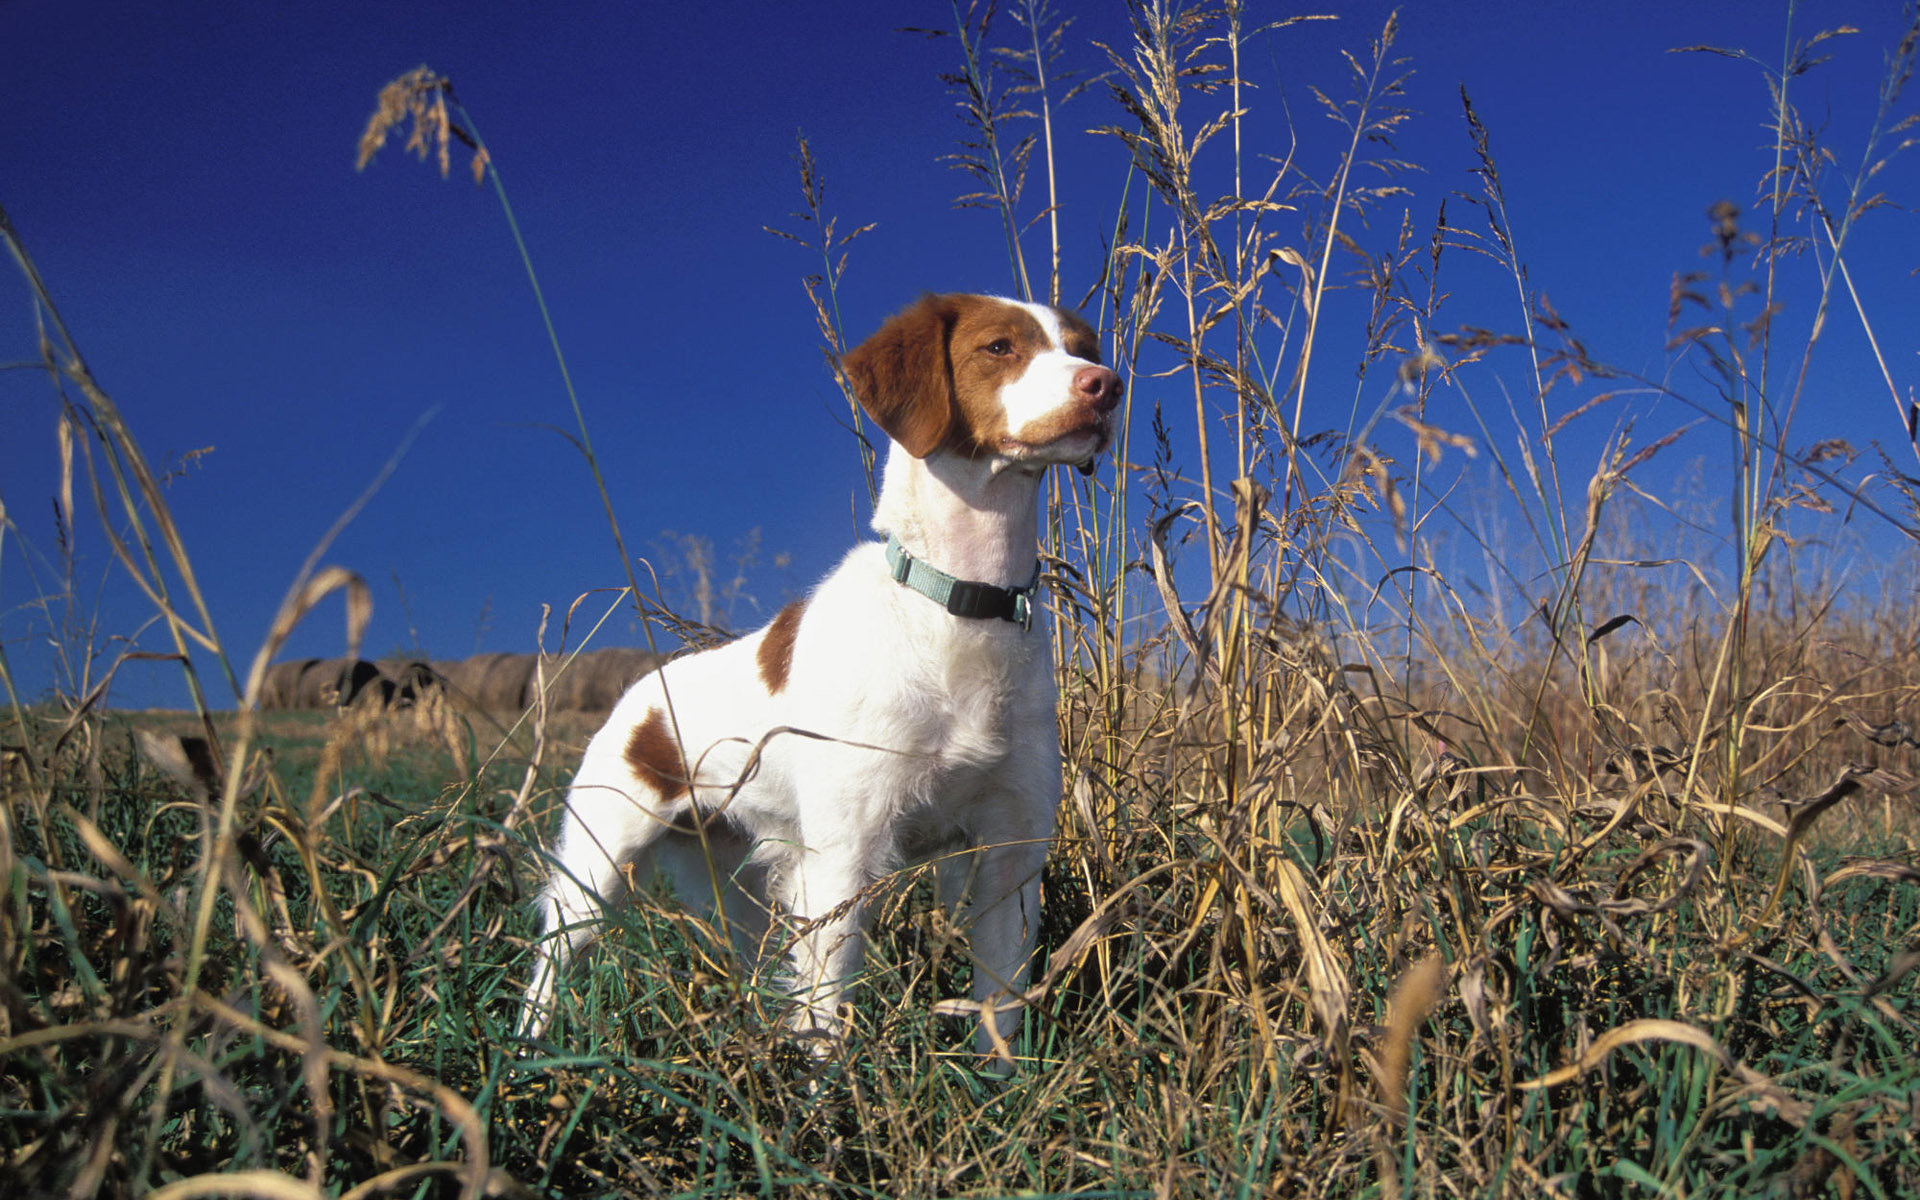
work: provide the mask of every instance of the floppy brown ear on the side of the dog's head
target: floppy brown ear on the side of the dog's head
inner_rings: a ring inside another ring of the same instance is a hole
[[[922,296],[841,363],[866,415],[916,459],[933,453],[954,424],[947,340],[956,313],[952,298]]]

